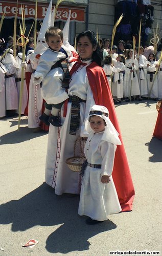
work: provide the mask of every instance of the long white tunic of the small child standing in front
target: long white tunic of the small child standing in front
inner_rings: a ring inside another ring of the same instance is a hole
[[[107,220],[109,214],[120,212],[117,191],[111,176],[116,145],[102,141],[101,133],[91,133],[85,144],[88,163],[101,164],[101,168],[87,166],[81,186],[79,215],[86,215],[98,221]],[[110,176],[110,182],[103,184],[101,177]]]

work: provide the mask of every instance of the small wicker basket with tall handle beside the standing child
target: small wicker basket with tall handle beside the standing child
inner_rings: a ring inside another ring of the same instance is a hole
[[[82,164],[86,160],[84,146],[86,140],[82,137],[76,139],[74,143],[74,156],[66,159],[66,164],[73,172],[80,172]]]

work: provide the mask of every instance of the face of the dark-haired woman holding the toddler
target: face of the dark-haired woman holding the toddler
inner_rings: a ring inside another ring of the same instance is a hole
[[[92,53],[96,51],[96,46],[92,47],[92,44],[87,36],[82,36],[79,38],[77,45],[79,56],[84,59],[89,59]]]

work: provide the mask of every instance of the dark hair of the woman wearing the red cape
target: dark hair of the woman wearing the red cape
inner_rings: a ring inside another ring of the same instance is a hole
[[[83,36],[87,36],[92,44],[92,47],[96,47],[96,50],[92,53],[92,60],[95,61],[99,66],[103,67],[103,53],[101,51],[96,34],[94,32],[92,32],[91,30],[86,30],[86,31],[80,33],[76,38],[77,44],[78,44],[79,39]]]

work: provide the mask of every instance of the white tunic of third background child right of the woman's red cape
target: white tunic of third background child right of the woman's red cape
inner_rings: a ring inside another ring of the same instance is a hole
[[[132,67],[132,63],[134,63],[134,67]],[[133,69],[132,73],[130,72],[131,68]],[[124,96],[125,97],[140,95],[140,87],[138,83],[136,70],[138,70],[137,59],[132,59],[132,58],[126,59],[125,75],[124,75]],[[134,77],[133,77],[133,74],[134,74]]]

